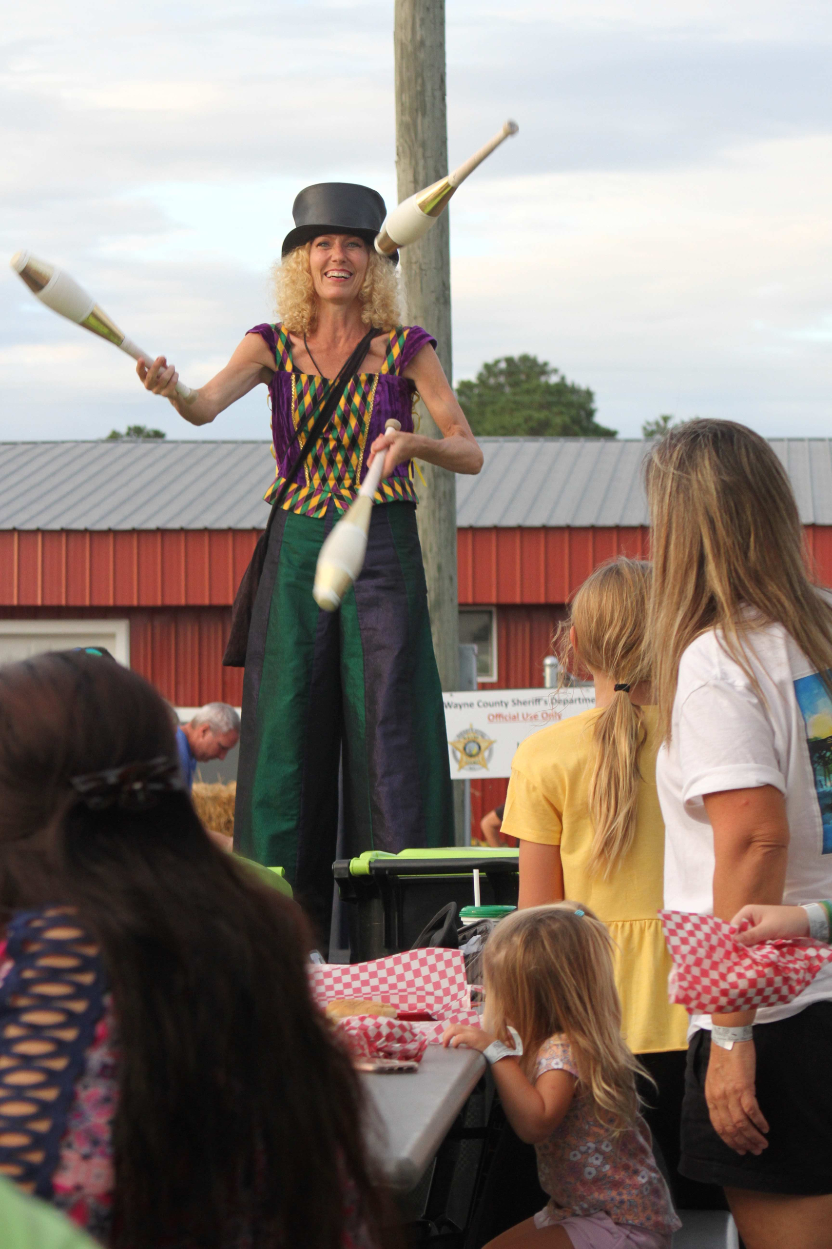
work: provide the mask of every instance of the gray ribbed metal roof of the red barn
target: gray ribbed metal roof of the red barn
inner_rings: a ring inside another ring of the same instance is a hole
[[[641,438],[480,438],[462,528],[647,523]],[[832,440],[772,438],[805,525],[832,525]],[[0,442],[0,530],[247,530],[268,517],[268,442]]]

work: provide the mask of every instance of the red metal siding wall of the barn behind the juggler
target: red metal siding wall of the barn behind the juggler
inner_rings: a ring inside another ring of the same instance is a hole
[[[222,667],[231,605],[256,530],[0,531],[0,618],[121,617],[131,666],[180,707],[239,706],[242,671]],[[832,527],[807,526],[816,577],[832,585]],[[458,531],[459,602],[496,607],[498,679],[543,684],[564,606],[616,555],[649,553],[646,528]],[[472,786],[474,827],[505,781]]]

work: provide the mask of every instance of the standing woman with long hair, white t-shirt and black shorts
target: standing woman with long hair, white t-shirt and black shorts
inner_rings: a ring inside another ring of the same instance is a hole
[[[691,421],[646,486],[665,906],[828,898],[832,607],[786,472],[745,426]],[[828,1249],[832,969],[756,1018],[695,1015],[689,1042],[682,1174],[725,1187],[747,1249]]]

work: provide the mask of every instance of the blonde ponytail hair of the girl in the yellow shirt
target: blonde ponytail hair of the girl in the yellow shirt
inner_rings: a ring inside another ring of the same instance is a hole
[[[605,672],[616,684],[632,687],[650,679],[650,575],[645,560],[621,556],[586,578],[573,600],[569,620],[558,632],[561,681],[575,662],[570,627],[575,628],[579,659]],[[646,738],[641,707],[630,702],[627,691],[616,691],[595,721],[590,761],[590,872],[602,877],[611,874],[632,846],[641,779],[639,756]]]

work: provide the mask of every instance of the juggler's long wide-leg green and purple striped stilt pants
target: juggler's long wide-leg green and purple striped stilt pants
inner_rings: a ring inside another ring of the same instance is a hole
[[[286,869],[329,931],[343,761],[344,852],[453,844],[439,673],[412,503],[373,508],[338,612],[312,597],[324,518],[274,518],[243,681],[235,849]]]

